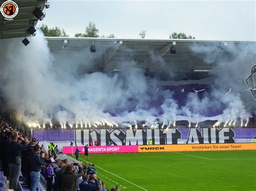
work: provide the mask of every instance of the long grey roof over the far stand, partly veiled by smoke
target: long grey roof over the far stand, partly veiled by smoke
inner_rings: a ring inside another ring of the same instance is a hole
[[[91,72],[118,71],[120,61],[134,60],[151,72],[165,72],[171,70],[179,73],[209,72],[215,63],[206,64],[198,53],[191,49],[192,46],[212,47],[211,51],[204,52],[207,56],[232,56],[239,54],[238,51],[227,51],[227,46],[245,45],[254,46],[255,41],[211,41],[192,39],[116,39],[116,38],[64,38],[46,37],[51,52],[67,53],[77,52],[89,54],[91,45],[95,45],[95,65]],[[176,44],[176,45],[174,45]],[[171,54],[170,48],[176,48],[176,53]],[[97,54],[98,53],[98,54]],[[256,51],[248,54],[251,58],[256,57]]]

